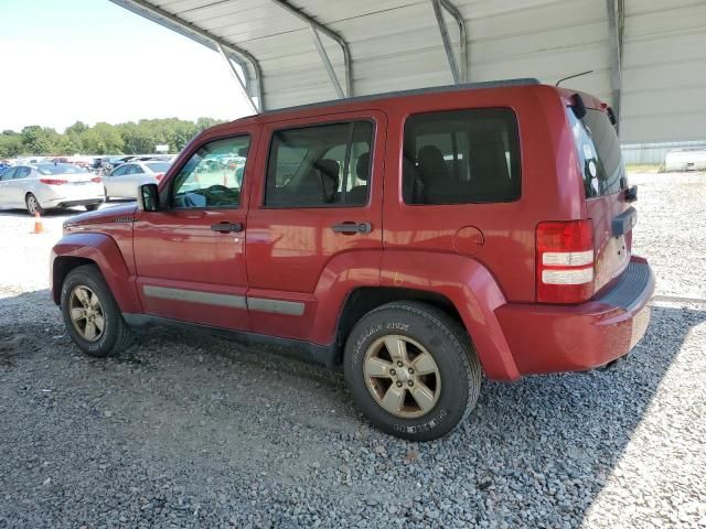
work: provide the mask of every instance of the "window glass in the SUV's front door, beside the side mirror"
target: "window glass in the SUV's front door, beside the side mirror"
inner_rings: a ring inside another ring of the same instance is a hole
[[[228,138],[203,145],[181,168],[172,186],[176,208],[237,207],[249,137]]]

